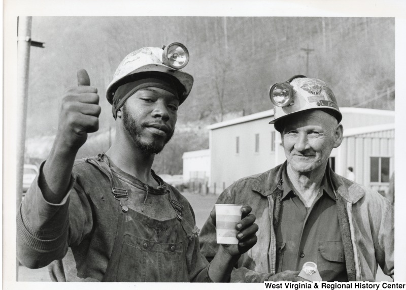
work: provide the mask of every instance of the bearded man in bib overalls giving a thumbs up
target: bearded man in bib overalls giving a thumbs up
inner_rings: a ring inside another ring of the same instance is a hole
[[[177,43],[128,54],[107,89],[115,140],[106,154],[74,164],[100,114],[97,89],[78,71],[78,86],[62,100],[51,153],[18,211],[24,266],[50,264],[55,281],[229,281],[240,255],[256,243],[251,208],[242,208],[239,244],[220,246],[209,267],[190,204],[151,169],[192,88],[193,77],[179,70],[186,58]]]

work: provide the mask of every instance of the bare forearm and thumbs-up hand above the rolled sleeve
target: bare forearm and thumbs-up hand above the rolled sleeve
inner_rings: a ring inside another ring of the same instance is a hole
[[[98,130],[101,109],[97,88],[90,86],[85,70],[79,70],[77,76],[78,86],[68,88],[63,96],[58,132],[40,174],[39,185],[50,203],[59,203],[65,197],[76,153],[87,134]]]

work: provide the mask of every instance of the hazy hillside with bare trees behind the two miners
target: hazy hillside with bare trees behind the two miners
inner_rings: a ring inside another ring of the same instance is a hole
[[[179,109],[158,173],[182,172],[185,151],[209,147],[205,127],[232,114],[272,109],[268,89],[304,74],[329,84],[343,107],[394,110],[394,18],[327,17],[33,17],[27,158],[46,158],[63,90],[89,72],[100,95],[100,130],[78,157],[106,151],[114,138],[106,88],[120,60],[143,46],[181,42],[195,83]],[[5,96],[7,97],[7,96]]]

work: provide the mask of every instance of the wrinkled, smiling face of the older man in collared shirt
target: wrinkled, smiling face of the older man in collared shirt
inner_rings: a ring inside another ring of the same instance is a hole
[[[327,164],[331,150],[341,144],[343,126],[324,111],[307,110],[287,118],[281,135],[288,163],[305,173]]]

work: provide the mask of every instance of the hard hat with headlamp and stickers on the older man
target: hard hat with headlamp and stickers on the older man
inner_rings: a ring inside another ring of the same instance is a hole
[[[277,125],[278,121],[305,110],[324,110],[338,122],[343,118],[334,93],[322,80],[302,75],[294,76],[287,82],[276,83],[270,87],[269,98],[275,105],[274,119],[269,124],[275,124],[279,132],[282,128]]]

